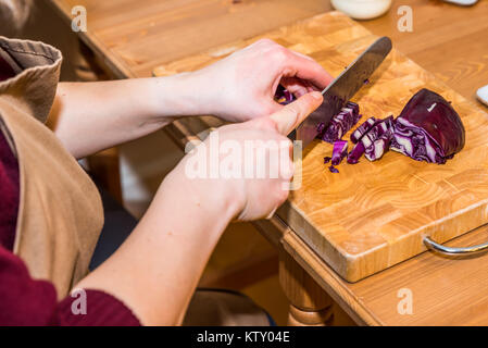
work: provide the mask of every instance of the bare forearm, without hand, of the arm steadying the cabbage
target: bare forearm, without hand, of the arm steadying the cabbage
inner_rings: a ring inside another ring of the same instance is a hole
[[[49,126],[74,157],[83,158],[199,113],[196,98],[189,74],[61,83]]]

